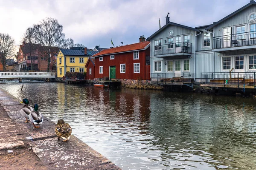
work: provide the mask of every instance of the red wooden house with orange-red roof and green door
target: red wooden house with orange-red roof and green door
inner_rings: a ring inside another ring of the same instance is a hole
[[[143,41],[144,40],[144,41]],[[105,49],[95,59],[95,79],[150,79],[150,42],[140,38],[135,44]]]

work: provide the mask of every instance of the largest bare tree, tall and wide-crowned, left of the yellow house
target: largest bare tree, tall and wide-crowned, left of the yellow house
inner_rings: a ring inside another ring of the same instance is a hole
[[[63,26],[58,23],[58,20],[46,18],[39,24],[33,26],[33,36],[35,40],[42,45],[39,51],[47,59],[47,72],[49,72],[51,58],[57,54],[56,48],[68,47],[73,40],[65,39],[65,34],[62,33]]]

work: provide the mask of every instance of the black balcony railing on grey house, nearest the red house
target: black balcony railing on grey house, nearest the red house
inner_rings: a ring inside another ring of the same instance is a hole
[[[189,53],[191,54],[192,43],[176,42],[165,45],[154,46],[154,55]]]

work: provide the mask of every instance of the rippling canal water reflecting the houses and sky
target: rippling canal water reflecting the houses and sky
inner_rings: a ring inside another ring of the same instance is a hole
[[[70,123],[123,170],[256,169],[255,99],[63,83],[0,87]]]

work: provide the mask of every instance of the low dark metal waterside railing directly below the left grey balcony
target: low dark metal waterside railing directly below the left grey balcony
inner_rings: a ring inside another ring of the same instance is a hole
[[[151,73],[151,83],[186,84],[194,82],[194,73]]]

